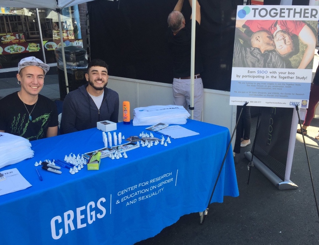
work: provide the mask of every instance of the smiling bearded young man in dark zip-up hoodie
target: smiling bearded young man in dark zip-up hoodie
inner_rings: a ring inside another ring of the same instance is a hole
[[[67,94],[63,102],[61,133],[72,133],[96,127],[96,122],[109,120],[118,122],[119,95],[106,88],[108,65],[92,60],[85,74],[85,84]]]

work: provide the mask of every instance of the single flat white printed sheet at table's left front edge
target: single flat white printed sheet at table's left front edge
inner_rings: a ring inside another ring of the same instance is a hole
[[[19,172],[18,169],[3,170],[0,173],[6,177],[0,182],[0,196],[15,191],[24,190],[32,186]]]

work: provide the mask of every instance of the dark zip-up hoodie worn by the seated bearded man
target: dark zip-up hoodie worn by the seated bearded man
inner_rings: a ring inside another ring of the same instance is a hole
[[[86,91],[88,84],[67,94],[63,102],[60,133],[72,133],[96,127],[96,122],[109,120],[118,122],[119,95],[104,88],[100,110]]]

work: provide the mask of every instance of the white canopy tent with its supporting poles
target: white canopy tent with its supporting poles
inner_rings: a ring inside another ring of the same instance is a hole
[[[48,8],[57,11],[60,37],[63,37],[62,26],[61,26],[61,9],[65,7],[70,7],[77,4],[82,4],[85,2],[90,2],[93,0],[0,0],[1,7],[16,7],[16,8]],[[192,0],[192,16],[196,16],[196,0]],[[194,107],[194,68],[195,68],[195,18],[192,18],[192,45],[191,45],[191,96],[190,96],[190,107]],[[63,40],[61,40],[62,47],[62,58],[64,64],[64,76],[66,83],[66,92],[69,93],[69,84],[66,71],[64,46],[62,45]],[[191,119],[193,119],[193,111],[191,111]]]

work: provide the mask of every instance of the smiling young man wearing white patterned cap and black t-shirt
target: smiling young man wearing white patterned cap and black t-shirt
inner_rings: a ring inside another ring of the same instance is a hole
[[[49,68],[33,56],[19,62],[17,79],[21,90],[0,100],[0,132],[30,141],[57,135],[56,104],[39,94]]]

